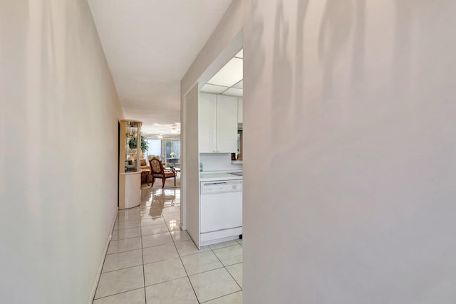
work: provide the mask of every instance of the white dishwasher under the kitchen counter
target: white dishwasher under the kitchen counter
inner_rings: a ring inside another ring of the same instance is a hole
[[[202,246],[242,234],[242,179],[201,182]]]

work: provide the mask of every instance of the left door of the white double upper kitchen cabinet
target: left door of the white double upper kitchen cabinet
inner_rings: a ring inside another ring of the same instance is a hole
[[[213,94],[199,93],[198,102],[198,147],[199,153],[214,153],[215,147],[215,111],[217,97]]]

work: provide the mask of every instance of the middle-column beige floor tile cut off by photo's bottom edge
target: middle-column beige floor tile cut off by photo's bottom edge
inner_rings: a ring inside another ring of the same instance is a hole
[[[152,304],[198,304],[188,278],[147,286],[145,288],[147,303]]]

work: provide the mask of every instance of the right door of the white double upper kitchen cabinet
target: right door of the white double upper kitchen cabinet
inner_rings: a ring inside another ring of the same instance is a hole
[[[237,98],[217,95],[217,145],[218,153],[237,152]]]

